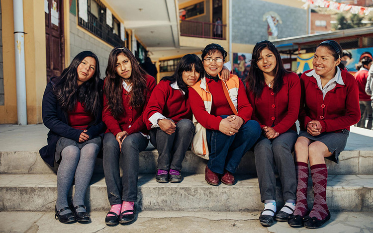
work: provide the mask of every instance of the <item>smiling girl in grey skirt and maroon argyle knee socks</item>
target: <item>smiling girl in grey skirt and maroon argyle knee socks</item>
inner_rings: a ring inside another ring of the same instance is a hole
[[[360,120],[358,84],[341,63],[342,48],[334,40],[321,42],[312,61],[313,70],[300,77],[299,137],[295,143],[296,207],[291,227],[319,228],[330,219],[326,204],[328,170],[325,159],[338,163],[350,126]],[[314,190],[310,213],[307,205],[308,161]]]

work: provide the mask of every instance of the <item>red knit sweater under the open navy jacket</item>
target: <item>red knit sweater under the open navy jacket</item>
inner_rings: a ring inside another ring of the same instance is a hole
[[[74,129],[86,130],[87,126],[94,120],[93,115],[84,111],[81,102],[77,101],[75,110],[68,112],[69,124]]]

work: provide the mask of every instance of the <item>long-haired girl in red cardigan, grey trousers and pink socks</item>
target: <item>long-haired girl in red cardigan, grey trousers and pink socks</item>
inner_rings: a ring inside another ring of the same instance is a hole
[[[149,142],[142,114],[155,79],[140,68],[131,51],[120,46],[111,50],[105,74],[102,120],[107,131],[103,138],[103,171],[111,205],[105,223],[116,225],[135,218],[139,154]]]

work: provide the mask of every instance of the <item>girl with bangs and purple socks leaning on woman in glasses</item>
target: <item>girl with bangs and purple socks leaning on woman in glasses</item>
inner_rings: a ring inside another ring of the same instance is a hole
[[[144,122],[150,130],[150,142],[159,154],[157,182],[182,181],[182,161],[195,130],[188,87],[199,80],[203,71],[197,55],[187,54],[180,60],[174,75],[162,78],[150,97]]]

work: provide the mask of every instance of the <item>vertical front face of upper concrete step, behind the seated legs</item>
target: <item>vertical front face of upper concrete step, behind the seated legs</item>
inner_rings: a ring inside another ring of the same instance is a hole
[[[149,144],[150,145],[150,144]],[[16,158],[16,159],[15,159]],[[373,174],[373,151],[343,151],[336,164],[326,159],[329,174]],[[153,173],[156,170],[158,152],[152,146],[140,153],[140,173]],[[183,161],[183,172],[203,174],[207,160],[188,151]],[[56,174],[54,168],[46,164],[35,151],[0,151],[0,174]],[[103,173],[102,158],[96,159],[95,173]],[[237,174],[256,174],[254,153],[248,152],[241,160]]]

